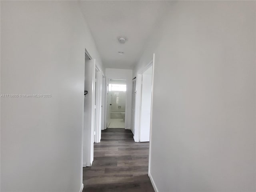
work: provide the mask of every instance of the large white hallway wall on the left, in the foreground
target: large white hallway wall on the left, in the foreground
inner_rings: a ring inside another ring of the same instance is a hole
[[[102,66],[77,2],[1,1],[1,191],[82,186],[84,48]]]

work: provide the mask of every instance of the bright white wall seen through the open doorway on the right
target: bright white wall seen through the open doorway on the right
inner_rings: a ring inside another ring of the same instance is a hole
[[[140,142],[148,142],[150,138],[151,90],[152,66],[142,74]]]

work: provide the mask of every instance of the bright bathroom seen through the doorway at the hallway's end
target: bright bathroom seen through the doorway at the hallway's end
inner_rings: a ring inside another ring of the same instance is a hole
[[[125,128],[126,80],[108,81],[108,122],[107,128]]]

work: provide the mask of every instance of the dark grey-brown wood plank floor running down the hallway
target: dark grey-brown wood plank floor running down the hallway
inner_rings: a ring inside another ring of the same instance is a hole
[[[102,131],[94,162],[83,168],[83,192],[154,192],[148,178],[149,142],[136,143],[130,130]]]

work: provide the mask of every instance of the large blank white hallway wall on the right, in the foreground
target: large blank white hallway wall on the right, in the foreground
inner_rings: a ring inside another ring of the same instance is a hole
[[[150,176],[159,192],[256,191],[255,1],[170,2],[155,53]]]

